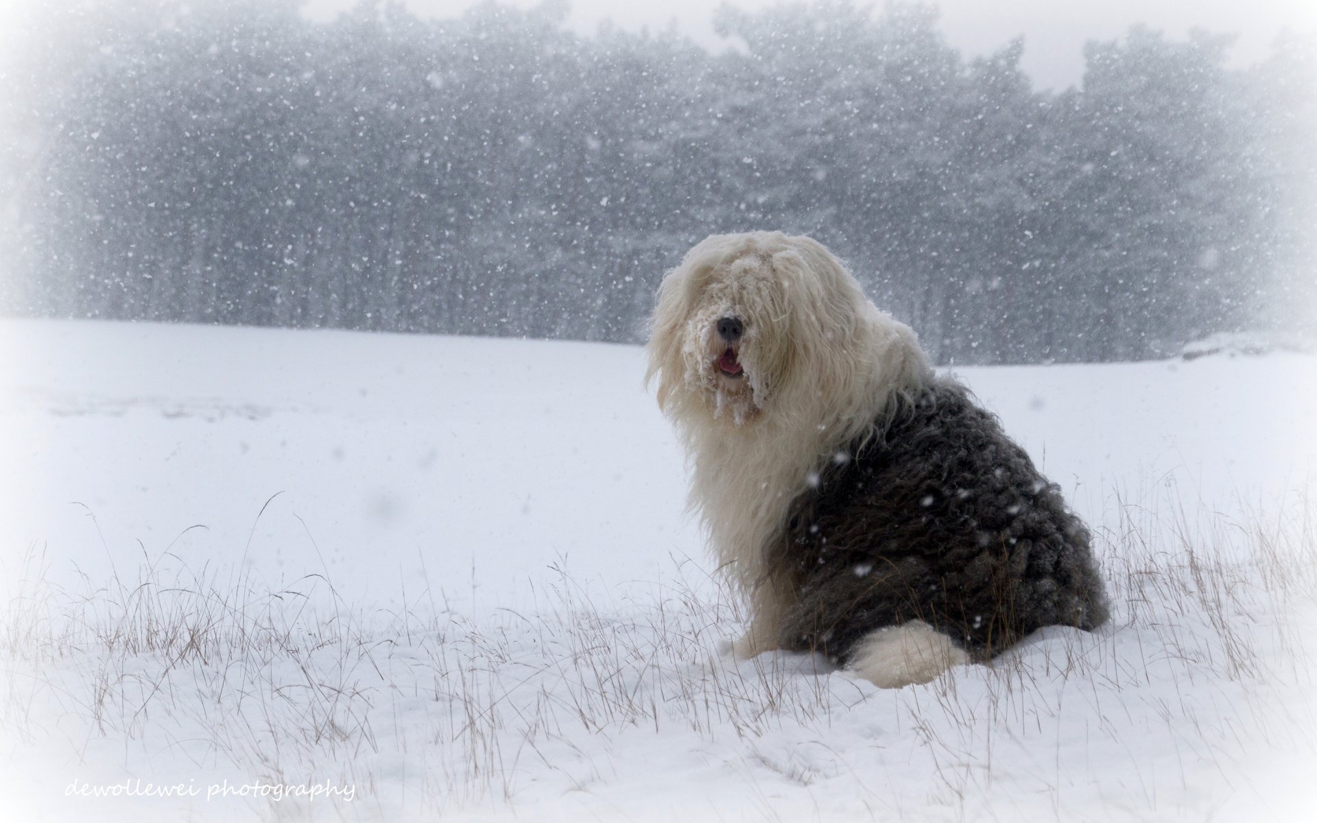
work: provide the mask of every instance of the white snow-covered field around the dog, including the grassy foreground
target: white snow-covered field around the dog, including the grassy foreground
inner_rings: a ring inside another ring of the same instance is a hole
[[[894,691],[731,660],[643,359],[0,321],[0,819],[1317,818],[1317,357],[961,370],[1114,618]]]

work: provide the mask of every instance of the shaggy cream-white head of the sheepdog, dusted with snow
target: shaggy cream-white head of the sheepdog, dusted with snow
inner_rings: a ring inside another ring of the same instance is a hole
[[[753,424],[777,408],[809,416],[847,383],[876,316],[823,246],[778,232],[714,236],[658,292],[649,377],[677,420]]]

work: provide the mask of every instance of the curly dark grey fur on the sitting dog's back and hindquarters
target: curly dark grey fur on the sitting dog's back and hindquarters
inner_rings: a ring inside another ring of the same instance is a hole
[[[975,660],[1108,606],[1089,533],[964,387],[932,379],[798,498],[768,573],[788,581],[784,648],[843,662],[869,632],[923,620]]]

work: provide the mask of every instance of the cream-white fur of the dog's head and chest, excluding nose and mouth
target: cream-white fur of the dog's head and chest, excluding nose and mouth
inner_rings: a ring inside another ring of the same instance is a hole
[[[753,419],[723,412],[712,375],[716,319],[741,317],[740,362]],[[719,562],[749,598],[752,633],[772,645],[782,581],[765,553],[790,503],[838,450],[932,379],[914,332],[878,311],[827,249],[781,232],[715,234],[668,273],[649,338],[647,382],[674,421],[691,462],[690,507]]]

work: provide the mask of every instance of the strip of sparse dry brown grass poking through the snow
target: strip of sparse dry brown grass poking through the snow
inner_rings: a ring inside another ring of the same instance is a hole
[[[473,622],[429,593],[366,612],[319,574],[270,590],[241,570],[190,570],[169,550],[144,550],[130,578],[83,578],[74,593],[45,582],[46,561],[32,552],[0,623],[12,673],[0,723],[33,740],[65,712],[86,720],[88,739],[163,747],[198,766],[271,781],[332,776],[366,795],[402,781],[436,812],[515,805],[545,773],[576,787],[607,782],[595,744],[622,735],[693,736],[805,787],[849,780],[827,765],[844,756],[784,755],[765,739],[792,730],[822,747],[873,701],[886,701],[884,720],[927,764],[931,799],[965,819],[994,795],[997,752],[1021,740],[1043,769],[1036,790],[1064,818],[1073,764],[1062,762],[1062,739],[1081,720],[1094,760],[1137,757],[1130,730],[1163,726],[1223,774],[1231,739],[1317,751],[1312,715],[1271,703],[1281,687],[1313,685],[1308,498],[1223,515],[1175,489],[1115,494],[1097,537],[1114,602],[1108,627],[1048,629],[992,672],[897,693],[815,676],[832,669],[806,656],[732,661],[726,640],[743,615],[690,561],[674,562],[653,597],[605,604],[560,565],[527,611]],[[1150,687],[1167,681],[1183,687]],[[1055,764],[1039,748],[1047,735]],[[415,773],[387,773],[399,762],[416,762]],[[1164,773],[1129,786],[1131,802],[1159,809],[1167,786]],[[909,814],[892,797],[861,801],[882,816]]]

